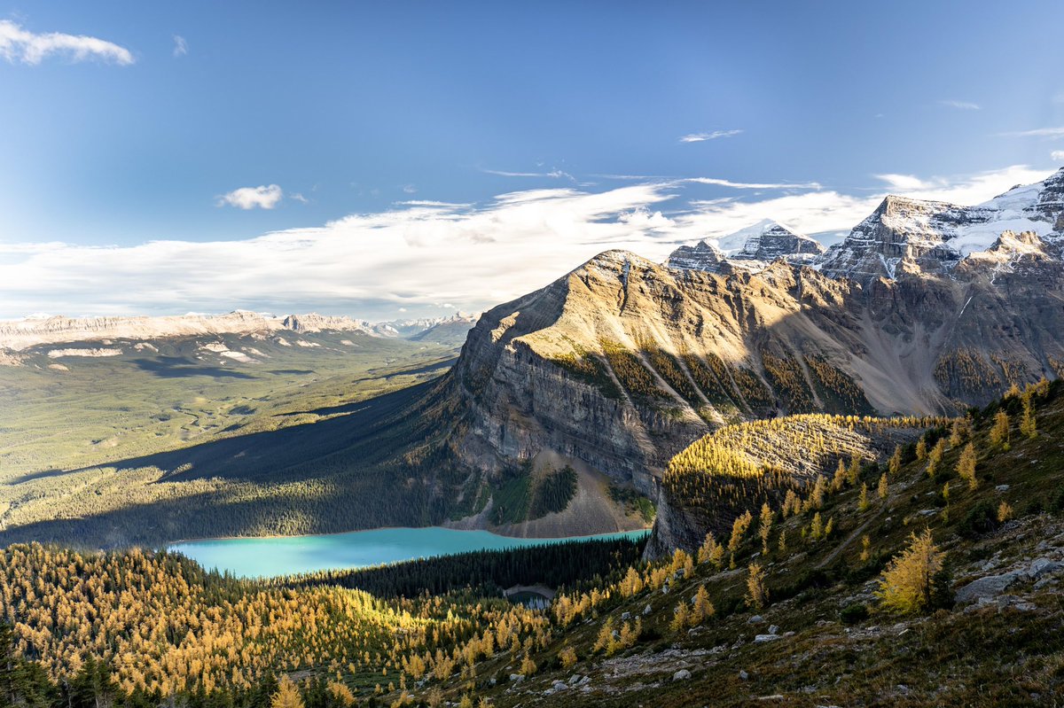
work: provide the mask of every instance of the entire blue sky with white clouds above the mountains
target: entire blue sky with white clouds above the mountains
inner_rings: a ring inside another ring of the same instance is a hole
[[[1064,166],[1057,1],[0,0],[0,317],[478,313]]]

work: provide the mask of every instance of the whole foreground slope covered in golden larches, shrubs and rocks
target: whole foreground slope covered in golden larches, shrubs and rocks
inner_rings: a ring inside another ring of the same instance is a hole
[[[12,547],[5,676],[55,706],[1051,705],[1064,385],[920,427],[882,453],[836,451],[782,501],[571,583],[546,611]]]

